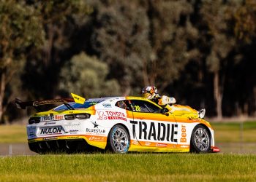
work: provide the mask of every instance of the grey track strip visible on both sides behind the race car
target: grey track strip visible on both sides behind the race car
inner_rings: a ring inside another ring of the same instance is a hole
[[[217,143],[221,153],[256,154],[256,143]],[[27,143],[0,143],[0,156],[37,155],[29,150]]]

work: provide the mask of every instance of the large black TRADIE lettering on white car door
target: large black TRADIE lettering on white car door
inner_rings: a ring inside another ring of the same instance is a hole
[[[130,121],[132,124],[132,135],[135,138],[135,131],[138,131],[138,139],[154,141],[177,142],[178,124],[138,122]]]

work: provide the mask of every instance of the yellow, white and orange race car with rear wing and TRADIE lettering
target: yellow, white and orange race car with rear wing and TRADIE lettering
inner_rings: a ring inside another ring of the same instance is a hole
[[[31,116],[27,125],[31,151],[86,151],[91,146],[117,153],[219,151],[214,130],[200,117],[171,114],[140,97],[75,100],[62,100],[61,106]],[[20,108],[45,104],[16,103]]]

